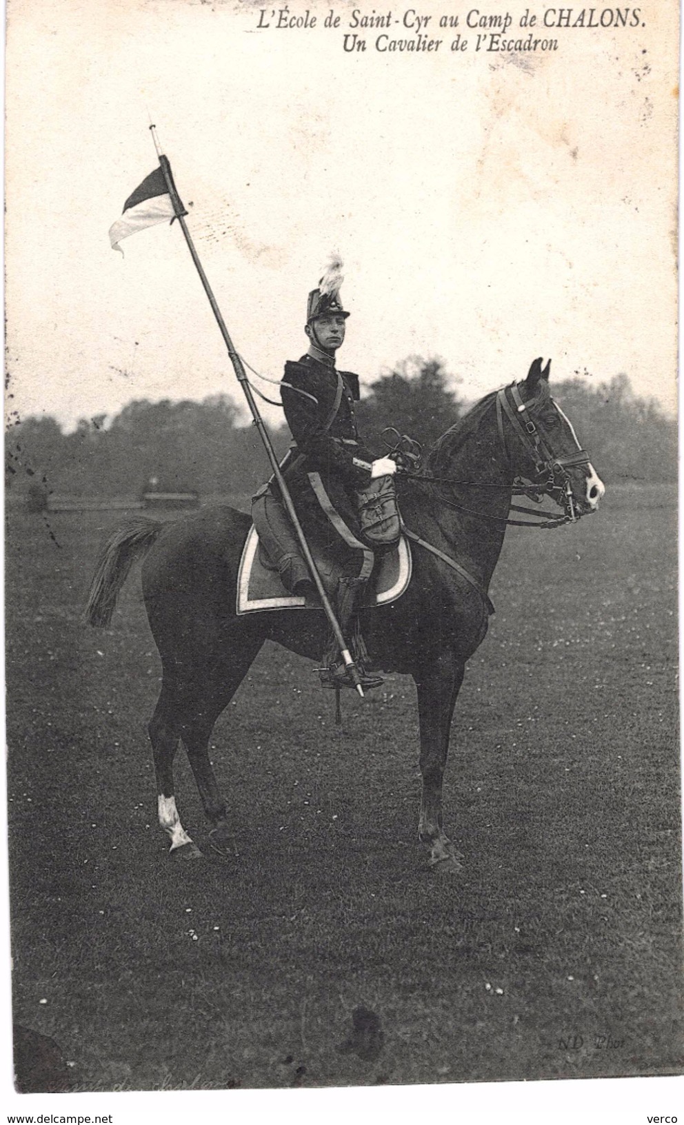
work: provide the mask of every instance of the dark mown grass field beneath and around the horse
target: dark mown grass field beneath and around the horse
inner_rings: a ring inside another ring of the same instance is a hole
[[[79,620],[120,513],[11,511],[15,1019],[73,1088],[680,1072],[675,500],[614,489],[576,528],[508,532],[453,723],[459,874],[416,839],[412,683],[345,701],[339,731],[272,646],[213,739],[236,854],[208,849],[179,754],[206,855],[173,863],[138,576],[110,629]]]

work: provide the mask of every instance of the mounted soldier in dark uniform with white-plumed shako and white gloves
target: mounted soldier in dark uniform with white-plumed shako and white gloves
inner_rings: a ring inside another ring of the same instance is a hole
[[[399,538],[393,482],[397,466],[389,457],[375,457],[360,440],[354,418],[359,377],[335,366],[350,315],[340,297],[341,270],[341,260],[333,258],[318,287],[309,292],[304,328],[308,350],[285,364],[281,399],[294,444],[281,470],[307,539],[316,546],[316,555],[322,555],[321,577],[332,587],[328,593],[342,632],[351,628],[352,655],[366,690],[378,687],[382,680],[368,670],[356,611],[376,554]],[[307,604],[316,604],[314,583],[272,479],[254,497],[252,514],[284,585],[305,596]],[[353,686],[334,642],[324,665],[323,686]]]

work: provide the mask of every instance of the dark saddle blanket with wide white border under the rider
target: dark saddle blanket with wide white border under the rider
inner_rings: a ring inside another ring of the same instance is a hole
[[[396,601],[411,580],[412,559],[408,543],[402,536],[394,550],[381,556],[376,572],[366,586],[362,605],[387,605]],[[322,609],[318,604],[306,603],[304,597],[295,597],[285,588],[278,572],[264,566],[259,550],[259,536],[254,525],[242,551],[237,575],[237,613],[254,613],[259,610],[305,610]]]

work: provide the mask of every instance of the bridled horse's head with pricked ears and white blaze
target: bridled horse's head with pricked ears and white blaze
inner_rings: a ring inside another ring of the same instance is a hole
[[[539,484],[574,519],[597,508],[605,486],[551,397],[550,369],[550,360],[542,368],[536,359],[523,382],[498,392],[498,429],[514,472]]]

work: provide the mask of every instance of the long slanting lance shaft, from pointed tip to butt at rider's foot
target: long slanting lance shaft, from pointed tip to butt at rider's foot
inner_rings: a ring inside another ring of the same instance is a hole
[[[340,628],[340,622],[338,621],[338,619],[335,616],[335,612],[334,612],[334,610],[333,610],[333,608],[331,605],[331,601],[330,601],[330,598],[327,596],[327,593],[325,592],[325,586],[323,585],[323,582],[321,580],[321,575],[318,574],[318,568],[316,567],[316,562],[314,560],[314,556],[312,555],[310,548],[309,548],[309,546],[308,546],[308,543],[306,541],[306,537],[304,534],[304,529],[302,528],[302,524],[299,523],[299,519],[298,519],[297,513],[295,511],[295,505],[292,503],[292,497],[290,496],[289,488],[287,487],[287,485],[285,483],[285,478],[282,476],[282,472],[280,471],[280,465],[278,464],[278,458],[276,457],[276,451],[274,451],[273,446],[271,443],[271,439],[269,436],[268,430],[266,429],[266,425],[263,424],[263,418],[261,417],[261,414],[259,412],[259,407],[256,406],[256,402],[255,402],[254,396],[252,394],[252,388],[250,387],[250,384],[249,384],[249,380],[248,380],[248,377],[246,377],[246,372],[245,372],[245,369],[244,369],[244,364],[242,362],[242,359],[240,358],[240,356],[235,351],[235,348],[233,346],[233,341],[231,340],[228,330],[226,327],[226,323],[225,323],[225,321],[224,321],[224,318],[222,316],[220,309],[219,309],[218,304],[216,302],[216,297],[214,296],[214,292],[212,290],[212,286],[209,285],[208,279],[207,279],[207,274],[205,273],[202,264],[201,264],[201,262],[199,260],[197,250],[195,249],[195,243],[192,242],[192,236],[191,236],[191,234],[190,234],[190,232],[188,230],[188,225],[187,225],[186,219],[184,219],[184,216],[188,214],[188,212],[183,207],[183,205],[182,205],[182,202],[180,200],[180,196],[178,195],[178,191],[176,190],[176,184],[173,182],[173,177],[171,174],[171,165],[169,163],[168,158],[162,153],[162,151],[161,151],[161,148],[159,146],[159,142],[158,142],[158,138],[156,138],[156,133],[155,133],[154,125],[150,126],[150,132],[152,133],[152,140],[154,141],[154,147],[156,150],[156,155],[159,158],[159,162],[160,162],[162,172],[164,173],[164,180],[165,180],[165,183],[166,183],[169,196],[171,198],[171,202],[173,205],[173,214],[174,214],[176,218],[178,219],[178,222],[180,223],[180,228],[183,232],[186,242],[188,244],[188,250],[190,251],[190,255],[192,258],[192,261],[195,262],[195,268],[197,269],[197,272],[199,273],[199,279],[200,279],[200,281],[202,284],[204,290],[205,290],[205,292],[207,295],[207,298],[209,300],[209,305],[212,306],[212,312],[214,313],[214,316],[216,318],[216,323],[218,324],[218,328],[219,328],[220,334],[222,334],[222,336],[224,339],[224,343],[226,345],[228,356],[231,357],[231,362],[233,363],[233,370],[235,371],[235,376],[237,378],[237,381],[238,381],[240,386],[242,387],[244,396],[245,396],[245,398],[248,400],[248,406],[250,407],[250,411],[252,413],[252,417],[254,420],[254,425],[256,426],[256,430],[259,431],[259,436],[261,438],[261,441],[263,442],[263,447],[266,449],[268,459],[269,459],[269,461],[271,464],[271,468],[273,470],[273,477],[276,478],[276,482],[277,482],[278,487],[280,489],[280,495],[282,497],[282,503],[285,504],[286,512],[287,512],[287,514],[289,516],[289,520],[290,520],[290,522],[292,524],[292,528],[295,530],[295,534],[297,536],[297,539],[299,541],[299,546],[302,548],[302,554],[304,555],[304,559],[305,559],[306,565],[307,565],[307,567],[309,569],[310,576],[312,576],[312,578],[314,580],[314,585],[315,585],[316,591],[318,593],[318,597],[321,598],[321,604],[322,604],[322,606],[323,606],[323,609],[325,611],[325,615],[326,615],[326,618],[327,618],[327,620],[330,622],[330,627],[331,627],[331,629],[333,631],[333,636],[334,636],[335,642],[336,642],[336,645],[338,645],[338,647],[340,649],[340,655],[342,656],[342,659],[344,662],[344,666],[346,668],[346,672],[348,672],[348,674],[349,674],[349,676],[351,678],[351,682],[353,683],[354,687],[357,688],[359,695],[361,695],[361,698],[363,698],[363,688],[361,686],[361,681],[360,681],[360,677],[359,677],[359,669],[357,668],[357,666],[356,666],[356,664],[354,664],[354,662],[352,659],[351,652],[349,650],[349,646],[348,646],[346,641],[344,640],[344,636],[342,633],[342,629]]]

